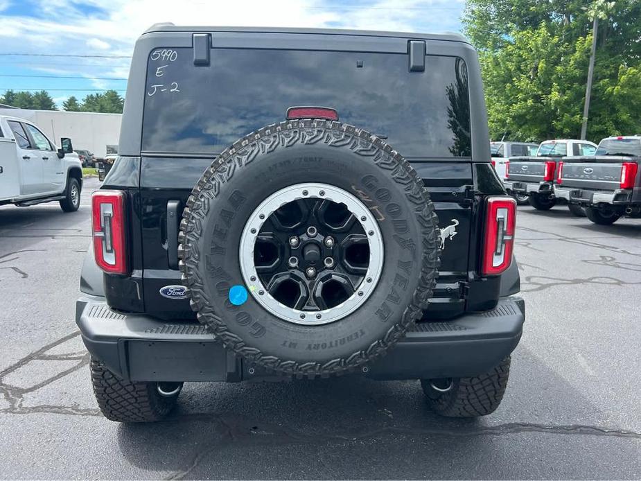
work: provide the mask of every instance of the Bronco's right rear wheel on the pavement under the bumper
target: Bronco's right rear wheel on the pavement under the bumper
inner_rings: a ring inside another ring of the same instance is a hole
[[[478,417],[491,414],[500,405],[510,358],[491,371],[473,378],[421,379],[430,408],[446,417]]]

